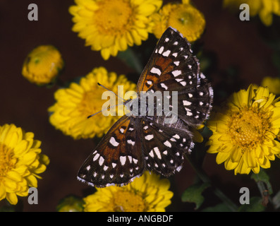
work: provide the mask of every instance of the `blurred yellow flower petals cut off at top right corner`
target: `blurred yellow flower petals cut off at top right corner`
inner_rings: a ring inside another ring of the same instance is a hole
[[[272,15],[280,16],[280,0],[224,0],[224,7],[239,10],[241,4],[248,4],[250,16],[259,14],[262,23],[272,25]]]

